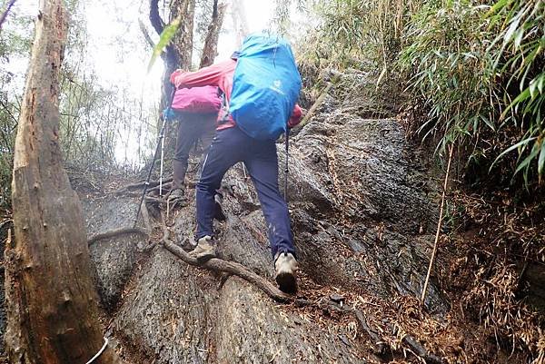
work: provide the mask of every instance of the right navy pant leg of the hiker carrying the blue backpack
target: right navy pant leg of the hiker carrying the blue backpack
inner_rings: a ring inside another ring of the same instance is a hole
[[[272,256],[279,251],[295,255],[290,212],[278,188],[276,145],[274,142],[252,141],[252,147],[245,152],[244,163],[262,205]]]

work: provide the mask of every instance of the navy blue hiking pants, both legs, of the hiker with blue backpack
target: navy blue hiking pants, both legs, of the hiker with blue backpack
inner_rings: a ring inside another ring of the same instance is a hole
[[[278,189],[278,156],[272,141],[259,141],[238,127],[218,131],[203,164],[197,183],[197,239],[213,236],[215,191],[223,175],[237,162],[244,162],[252,177],[269,229],[272,256],[277,251],[294,254],[288,206]]]

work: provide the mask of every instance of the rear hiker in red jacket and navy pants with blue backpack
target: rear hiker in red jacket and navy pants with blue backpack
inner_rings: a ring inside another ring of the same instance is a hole
[[[275,141],[300,122],[296,101],[301,76],[290,45],[266,34],[250,35],[240,53],[197,72],[176,71],[177,88],[213,85],[223,92],[216,136],[197,183],[197,247],[199,260],[215,256],[213,241],[214,193],[223,175],[244,162],[263,208],[274,258],[275,280],[284,292],[297,289],[297,261],[287,203],[278,187]]]

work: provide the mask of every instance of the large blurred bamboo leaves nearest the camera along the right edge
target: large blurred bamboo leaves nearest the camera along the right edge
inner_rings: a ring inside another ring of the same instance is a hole
[[[506,80],[501,113],[503,124],[520,127],[520,141],[500,156],[516,150],[519,163],[529,182],[537,169],[541,182],[545,172],[545,2],[542,0],[500,0],[490,9],[490,21],[500,24],[495,44],[490,49],[496,60],[493,71]],[[515,88],[516,92],[510,89]],[[535,168],[532,168],[535,167]]]

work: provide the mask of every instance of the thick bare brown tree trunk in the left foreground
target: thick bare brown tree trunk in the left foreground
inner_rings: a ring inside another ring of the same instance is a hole
[[[66,23],[61,0],[42,0],[40,7],[15,140],[5,341],[11,363],[84,363],[104,338],[81,206],[58,139]],[[94,362],[119,359],[106,349]]]

